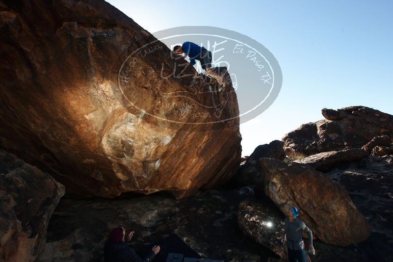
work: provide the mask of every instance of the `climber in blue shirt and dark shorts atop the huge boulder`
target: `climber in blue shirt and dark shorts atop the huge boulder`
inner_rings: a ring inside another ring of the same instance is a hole
[[[210,78],[216,79],[220,84],[219,91],[225,89],[225,81],[223,81],[216,72],[211,70],[211,52],[206,48],[200,47],[192,42],[184,42],[182,46],[175,46],[173,48],[173,52],[176,54],[184,53],[183,58],[188,56],[190,58],[191,65],[195,65],[195,60],[199,60],[199,62],[201,62],[202,69],[205,69],[206,74],[208,74]]]

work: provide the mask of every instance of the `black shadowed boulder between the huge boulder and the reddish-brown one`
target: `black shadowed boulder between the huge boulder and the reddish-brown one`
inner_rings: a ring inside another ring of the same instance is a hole
[[[255,185],[263,183],[263,172],[261,172],[262,157],[284,160],[286,157],[283,149],[284,143],[280,140],[273,140],[269,144],[259,145],[247,158],[244,164],[237,169],[236,174],[231,179],[230,184],[235,187]]]

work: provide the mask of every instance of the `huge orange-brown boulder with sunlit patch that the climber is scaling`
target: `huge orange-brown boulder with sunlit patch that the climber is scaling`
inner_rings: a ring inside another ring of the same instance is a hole
[[[104,0],[0,1],[0,146],[69,194],[187,197],[240,163],[236,93]],[[29,150],[26,150],[28,148]]]

